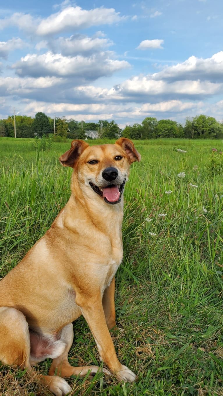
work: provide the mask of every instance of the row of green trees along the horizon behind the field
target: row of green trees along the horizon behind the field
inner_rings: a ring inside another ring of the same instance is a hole
[[[66,118],[56,118],[56,136],[63,139],[86,139],[85,131],[95,131],[99,139],[115,139],[123,136],[129,139],[158,139],[179,137],[188,139],[223,139],[223,124],[215,118],[200,114],[186,119],[185,126],[173,120],[157,120],[146,117],[141,124],[125,126],[119,129],[114,120],[95,122],[78,122]],[[41,137],[54,133],[54,118],[38,112],[35,118],[16,116],[16,137]],[[14,116],[0,120],[0,136],[14,137]]]

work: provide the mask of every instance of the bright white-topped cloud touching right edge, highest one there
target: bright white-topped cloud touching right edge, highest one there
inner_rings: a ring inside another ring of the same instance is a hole
[[[211,58],[197,58],[191,56],[183,63],[165,67],[161,72],[154,74],[157,80],[209,80],[223,81],[223,51],[215,53]]]

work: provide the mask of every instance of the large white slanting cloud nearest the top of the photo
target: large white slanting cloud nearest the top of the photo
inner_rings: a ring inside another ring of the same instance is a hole
[[[67,30],[86,29],[90,26],[112,25],[123,19],[114,8],[94,8],[83,10],[81,7],[66,7],[63,10],[42,19],[37,34],[56,34]]]

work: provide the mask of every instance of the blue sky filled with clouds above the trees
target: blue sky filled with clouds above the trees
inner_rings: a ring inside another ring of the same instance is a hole
[[[222,0],[8,0],[0,118],[223,121]]]

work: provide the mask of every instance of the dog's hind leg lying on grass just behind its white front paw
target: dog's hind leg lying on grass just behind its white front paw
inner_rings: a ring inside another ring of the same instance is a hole
[[[71,375],[80,375],[80,377],[85,377],[85,375],[90,370],[90,376],[96,374],[96,372],[102,371],[106,375],[110,376],[110,371],[106,369],[101,369],[98,366],[71,366],[68,362],[68,352],[73,343],[73,324],[70,323],[63,327],[61,332],[60,340],[66,344],[66,348],[61,356],[52,361],[52,365],[49,370],[49,375],[60,375],[60,377],[71,377]]]

